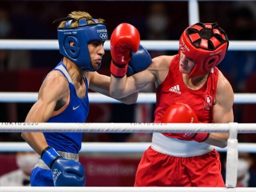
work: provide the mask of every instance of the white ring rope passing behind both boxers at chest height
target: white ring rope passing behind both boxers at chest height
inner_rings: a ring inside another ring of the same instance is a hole
[[[118,100],[99,93],[89,93],[90,103],[121,103]],[[37,92],[0,92],[0,102],[34,103],[37,101]],[[155,93],[139,93],[136,103],[156,103]],[[255,93],[235,93],[235,104],[256,103]]]

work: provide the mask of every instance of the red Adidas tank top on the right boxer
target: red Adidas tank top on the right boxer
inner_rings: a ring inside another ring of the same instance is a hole
[[[202,88],[191,90],[183,80],[179,69],[178,55],[174,56],[165,80],[156,88],[156,110],[154,123],[160,123],[166,109],[175,102],[188,104],[202,123],[212,123],[212,106],[215,100],[219,71],[214,67]],[[172,134],[164,134],[172,136]],[[178,138],[178,137],[177,137]]]

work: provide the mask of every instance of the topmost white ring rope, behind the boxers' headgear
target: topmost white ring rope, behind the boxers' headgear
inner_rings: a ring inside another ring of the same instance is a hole
[[[147,50],[178,50],[177,40],[141,40]],[[230,41],[229,51],[255,51],[256,41]],[[59,50],[58,40],[0,40],[0,49],[14,50]],[[110,50],[110,41],[104,43],[104,49]]]

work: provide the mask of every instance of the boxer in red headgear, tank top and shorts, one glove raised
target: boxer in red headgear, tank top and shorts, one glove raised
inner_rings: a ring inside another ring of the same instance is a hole
[[[217,23],[189,26],[177,55],[156,57],[146,70],[127,77],[127,62],[139,41],[136,33],[122,24],[111,36],[112,96],[122,98],[155,82],[156,123],[234,121],[232,87],[216,67],[228,49],[228,36]],[[134,186],[224,187],[214,146],[226,147],[227,139],[226,133],[153,133]]]

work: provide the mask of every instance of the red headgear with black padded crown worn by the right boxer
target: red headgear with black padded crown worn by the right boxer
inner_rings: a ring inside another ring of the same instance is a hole
[[[180,52],[195,61],[189,78],[202,75],[217,66],[228,50],[228,36],[218,23],[196,23],[180,36]]]

